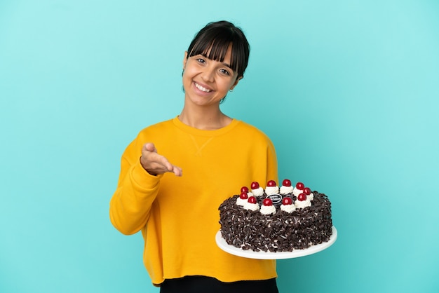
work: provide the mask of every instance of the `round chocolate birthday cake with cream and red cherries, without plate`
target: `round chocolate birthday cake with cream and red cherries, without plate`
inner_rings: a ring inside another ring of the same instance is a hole
[[[265,189],[252,182],[219,205],[219,224],[227,244],[243,250],[304,250],[330,239],[331,203],[302,182],[285,179],[279,187],[270,180]]]

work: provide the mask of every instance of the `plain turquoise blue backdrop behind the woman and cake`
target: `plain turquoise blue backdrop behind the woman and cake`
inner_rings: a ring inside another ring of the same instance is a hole
[[[109,222],[119,160],[183,105],[207,22],[243,27],[222,105],[327,193],[339,232],[281,292],[439,291],[439,1],[0,1],[0,292],[158,292]],[[245,168],[243,168],[245,170]]]

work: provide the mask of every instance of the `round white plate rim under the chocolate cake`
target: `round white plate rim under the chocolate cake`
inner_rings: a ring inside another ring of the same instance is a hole
[[[247,257],[248,259],[294,259],[295,257],[304,257],[330,247],[333,243],[335,243],[335,240],[337,240],[337,229],[335,229],[335,226],[332,226],[332,235],[327,242],[311,245],[304,250],[293,250],[292,252],[254,252],[252,250],[243,250],[227,244],[226,240],[222,238],[221,231],[217,232],[215,235],[215,240],[219,248],[238,257]]]

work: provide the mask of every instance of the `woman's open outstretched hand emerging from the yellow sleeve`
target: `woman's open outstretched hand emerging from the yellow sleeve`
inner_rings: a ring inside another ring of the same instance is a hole
[[[159,155],[156,147],[151,142],[143,145],[140,163],[144,170],[147,170],[151,175],[173,172],[176,176],[182,176],[182,168],[169,163],[167,158]]]

